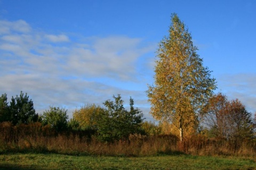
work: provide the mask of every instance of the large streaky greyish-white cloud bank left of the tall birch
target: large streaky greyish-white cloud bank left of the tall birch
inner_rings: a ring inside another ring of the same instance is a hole
[[[138,107],[147,105],[147,82],[137,67],[154,49],[142,39],[110,36],[74,42],[65,34],[37,32],[22,20],[1,23],[0,95],[6,93],[10,100],[22,90],[34,101],[36,112],[54,105],[66,107],[69,116],[76,107],[102,104],[117,94],[127,105],[130,96]],[[132,88],[136,86],[140,90]]]

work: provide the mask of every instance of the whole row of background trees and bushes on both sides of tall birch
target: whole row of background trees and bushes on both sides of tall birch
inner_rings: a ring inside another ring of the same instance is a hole
[[[165,121],[157,124],[143,121],[143,114],[134,108],[130,98],[130,111],[124,108],[121,95],[113,96],[114,101],[106,100],[105,107],[87,104],[73,112],[68,120],[67,109],[49,106],[42,115],[37,114],[34,104],[27,94],[12,97],[7,103],[7,95],[0,97],[0,123],[11,122],[14,126],[40,122],[50,126],[57,134],[66,131],[84,131],[94,134],[100,141],[113,142],[128,139],[130,134],[179,135],[175,125]],[[219,93],[209,98],[204,107],[206,113],[198,126],[191,126],[185,135],[203,134],[209,138],[234,140],[255,139],[256,117],[247,112],[245,106],[236,100],[227,100],[227,96]],[[256,115],[254,115],[256,116]]]

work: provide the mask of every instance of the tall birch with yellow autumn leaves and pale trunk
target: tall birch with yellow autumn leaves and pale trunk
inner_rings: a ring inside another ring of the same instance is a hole
[[[171,16],[169,37],[159,44],[155,85],[148,86],[150,114],[156,120],[168,121],[183,132],[198,123],[207,99],[216,88],[211,71],[196,54],[197,47],[177,14]]]

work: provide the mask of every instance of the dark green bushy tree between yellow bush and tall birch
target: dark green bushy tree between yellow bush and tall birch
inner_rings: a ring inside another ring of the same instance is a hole
[[[133,107],[133,99],[130,98],[130,112],[123,106],[121,96],[113,96],[115,101],[106,100],[106,111],[98,120],[98,139],[101,141],[114,142],[115,140],[128,139],[130,134],[141,130],[143,114],[138,108]]]

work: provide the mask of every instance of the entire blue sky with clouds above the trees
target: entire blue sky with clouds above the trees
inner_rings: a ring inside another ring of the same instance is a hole
[[[130,96],[148,120],[158,43],[170,16],[187,25],[218,89],[256,111],[256,1],[0,0],[0,94],[49,106]]]

